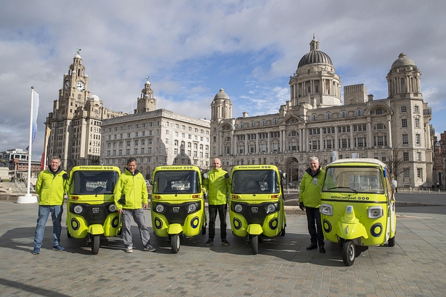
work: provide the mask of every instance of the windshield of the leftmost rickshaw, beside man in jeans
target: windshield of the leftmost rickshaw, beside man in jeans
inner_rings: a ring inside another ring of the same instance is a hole
[[[75,171],[71,177],[71,195],[112,194],[118,181],[116,171]]]

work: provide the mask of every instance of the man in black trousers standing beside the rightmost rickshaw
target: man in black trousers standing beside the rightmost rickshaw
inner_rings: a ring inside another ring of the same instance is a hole
[[[324,253],[323,231],[321,224],[321,189],[325,171],[321,169],[316,156],[309,159],[309,168],[305,171],[300,182],[299,207],[307,213],[308,232],[311,244],[307,250],[314,250],[319,246],[319,252]]]

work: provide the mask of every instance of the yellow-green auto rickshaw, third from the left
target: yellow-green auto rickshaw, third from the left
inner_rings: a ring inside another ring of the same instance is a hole
[[[285,235],[282,177],[274,165],[234,166],[231,170],[231,230],[236,236],[247,236],[254,255],[259,252],[261,235]]]

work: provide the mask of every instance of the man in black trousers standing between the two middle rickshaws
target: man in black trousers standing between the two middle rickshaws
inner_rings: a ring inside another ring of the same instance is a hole
[[[226,240],[226,211],[228,210],[229,182],[224,177],[226,171],[222,169],[222,161],[214,159],[213,170],[208,172],[208,178],[203,181],[203,191],[208,192],[208,209],[209,209],[209,239],[205,245],[210,246],[214,243],[215,236],[215,219],[220,217],[220,237],[222,244],[229,246]]]

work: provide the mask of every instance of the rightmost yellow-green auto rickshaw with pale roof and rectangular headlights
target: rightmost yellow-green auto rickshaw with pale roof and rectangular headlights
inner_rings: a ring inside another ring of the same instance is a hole
[[[346,266],[355,246],[395,245],[397,181],[376,159],[341,159],[328,164],[321,196],[325,239],[339,243]]]

